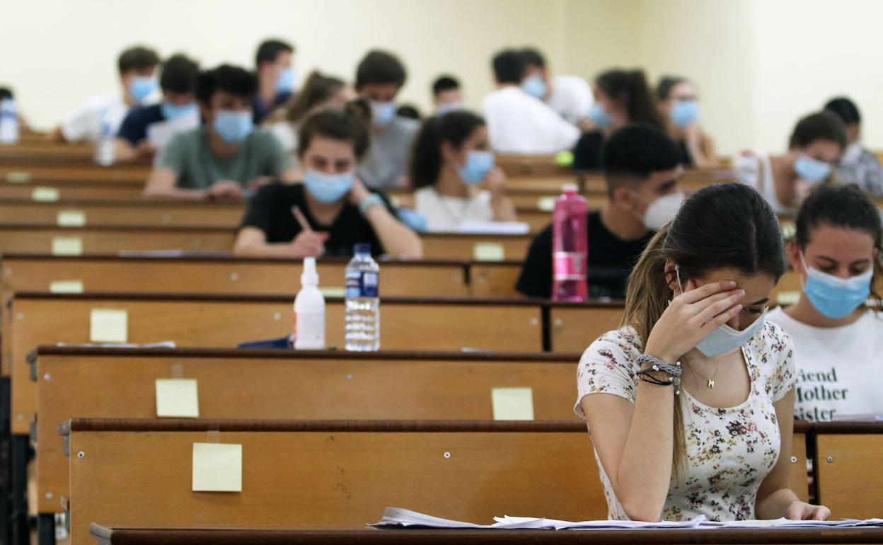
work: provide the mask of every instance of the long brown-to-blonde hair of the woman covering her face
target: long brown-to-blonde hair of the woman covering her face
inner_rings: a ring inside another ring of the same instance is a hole
[[[705,276],[711,270],[736,269],[746,275],[767,274],[776,281],[788,268],[779,220],[756,191],[742,184],[708,185],[683,203],[675,219],[658,231],[641,254],[629,277],[623,327],[647,337],[673,297],[672,273],[680,279]],[[675,399],[673,471],[686,459],[684,414]]]

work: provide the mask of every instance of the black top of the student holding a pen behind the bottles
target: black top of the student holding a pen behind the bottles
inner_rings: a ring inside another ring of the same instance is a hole
[[[291,208],[298,206],[306,216],[313,231],[328,231],[330,236],[325,242],[326,256],[351,256],[353,246],[358,243],[371,245],[371,253],[383,254],[383,246],[377,238],[371,223],[349,202],[343,205],[334,223],[322,225],[310,213],[306,205],[306,190],[303,184],[270,184],[264,185],[255,193],[245,210],[242,227],[257,227],[267,235],[267,242],[291,242],[300,233],[300,223],[291,214]],[[386,203],[390,214],[396,216],[396,209],[389,203],[386,195],[378,193]]]

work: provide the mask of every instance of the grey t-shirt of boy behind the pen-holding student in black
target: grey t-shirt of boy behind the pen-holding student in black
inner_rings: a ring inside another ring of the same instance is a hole
[[[396,187],[399,178],[408,170],[411,141],[420,123],[407,117],[394,117],[386,130],[374,134],[371,148],[358,165],[358,178],[372,189]]]

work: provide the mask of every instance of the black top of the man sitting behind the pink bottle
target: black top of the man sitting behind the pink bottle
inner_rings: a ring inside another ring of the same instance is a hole
[[[620,240],[601,223],[599,211],[588,216],[589,297],[625,298],[625,284],[653,231],[638,240]],[[552,297],[552,225],[533,238],[516,289],[530,297]]]

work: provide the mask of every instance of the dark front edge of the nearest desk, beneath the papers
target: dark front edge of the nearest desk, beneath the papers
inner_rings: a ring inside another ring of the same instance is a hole
[[[382,512],[376,517],[380,520]],[[375,521],[376,522],[376,521]],[[490,524],[490,521],[482,521]],[[90,529],[98,545],[745,545],[881,543],[883,528],[719,528],[696,530],[222,530]]]

